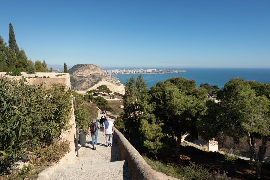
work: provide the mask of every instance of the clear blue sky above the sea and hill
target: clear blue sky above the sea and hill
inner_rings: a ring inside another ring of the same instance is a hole
[[[100,67],[270,68],[269,0],[1,1],[28,59]]]

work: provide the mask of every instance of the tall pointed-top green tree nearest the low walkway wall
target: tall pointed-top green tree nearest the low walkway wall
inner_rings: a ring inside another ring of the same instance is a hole
[[[162,124],[152,114],[149,103],[149,90],[140,74],[132,76],[125,83],[124,112],[116,121],[116,126],[131,136],[131,142],[137,148],[144,147],[146,152],[157,153],[164,150],[165,144]]]

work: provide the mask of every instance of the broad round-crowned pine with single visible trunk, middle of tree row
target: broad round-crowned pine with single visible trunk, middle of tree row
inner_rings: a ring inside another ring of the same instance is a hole
[[[164,125],[164,133],[177,137],[176,157],[179,158],[183,134],[196,132],[196,120],[205,113],[207,92],[196,88],[194,80],[173,77],[150,88],[154,114]]]

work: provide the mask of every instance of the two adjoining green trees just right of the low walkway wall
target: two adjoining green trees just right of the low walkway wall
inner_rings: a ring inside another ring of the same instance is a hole
[[[179,157],[182,134],[193,133],[196,120],[205,113],[205,88],[196,88],[194,80],[173,77],[148,90],[141,75],[137,80],[132,76],[125,86],[125,113],[116,120],[116,127],[131,139],[137,137],[137,146],[148,152],[176,146]]]

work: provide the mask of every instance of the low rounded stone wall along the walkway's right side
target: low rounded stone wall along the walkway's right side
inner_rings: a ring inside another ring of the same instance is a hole
[[[131,179],[160,180],[124,135],[116,128],[114,128],[114,132],[113,137],[117,142],[121,160],[128,161],[128,172]]]

